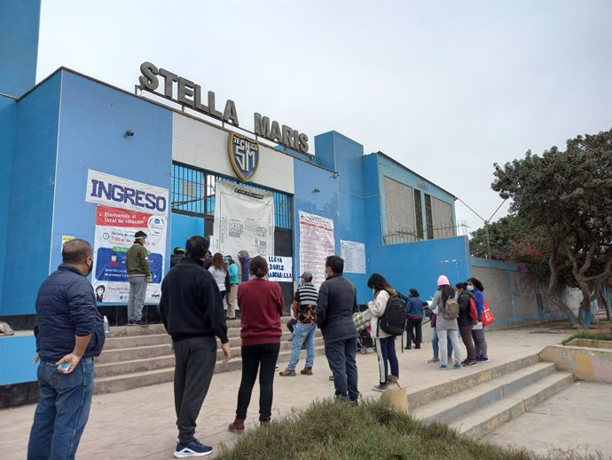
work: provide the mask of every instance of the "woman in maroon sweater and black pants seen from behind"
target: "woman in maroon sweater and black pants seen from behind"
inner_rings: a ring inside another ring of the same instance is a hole
[[[240,305],[240,338],[242,339],[242,379],[238,391],[236,419],[229,426],[231,432],[245,430],[248,403],[259,371],[259,422],[270,424],[272,393],[276,361],[279,357],[280,316],[285,309],[279,283],[264,279],[268,262],[257,256],[251,259],[249,272],[255,278],[238,286]]]

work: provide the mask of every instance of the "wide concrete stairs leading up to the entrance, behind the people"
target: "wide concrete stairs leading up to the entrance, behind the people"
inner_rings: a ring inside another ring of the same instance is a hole
[[[291,337],[286,329],[288,317],[281,319],[283,336],[279,363],[291,358]],[[223,362],[221,343],[217,339],[215,373],[242,369],[240,360],[240,321],[227,321],[231,360]],[[114,327],[106,337],[104,351],[96,359],[94,393],[114,393],[146,385],[171,382],[174,378],[172,340],[161,324]],[[317,330],[315,354],[324,354],[323,337]],[[302,358],[305,357],[302,350]]]

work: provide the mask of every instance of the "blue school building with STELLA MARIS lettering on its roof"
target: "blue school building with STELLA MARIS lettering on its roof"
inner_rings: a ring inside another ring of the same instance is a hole
[[[35,83],[40,1],[0,6],[0,321],[13,329],[32,329],[37,289],[61,263],[62,242],[93,245],[90,171],[167,191],[166,261],[192,234],[213,234],[215,184],[225,180],[273,194],[273,255],[292,259],[294,282],[310,257],[303,213],[333,223],[336,254],[353,250],[346,277],[360,303],[371,299],[366,282],[376,272],[426,299],[439,274],[451,282],[471,274],[456,198],[435,185],[441,178],[420,176],[393,152],[365,155],[336,131],[311,138],[260,114],[249,124],[238,103],[216,99],[180,69],[145,62],[125,83],[136,83],[135,91],[65,67]],[[247,182],[235,168],[232,135],[258,143]],[[281,283],[287,306],[294,282]],[[114,323],[125,315],[124,302],[100,308]],[[0,388],[35,380],[34,353],[29,333],[0,338]]]

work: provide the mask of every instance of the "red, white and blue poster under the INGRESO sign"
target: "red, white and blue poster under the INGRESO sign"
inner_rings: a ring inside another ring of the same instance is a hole
[[[165,216],[98,205],[91,274],[98,302],[128,301],[126,263],[129,247],[134,243],[134,234],[138,230],[148,235],[145,249],[153,278],[153,282],[146,286],[145,302],[160,302],[167,228]]]

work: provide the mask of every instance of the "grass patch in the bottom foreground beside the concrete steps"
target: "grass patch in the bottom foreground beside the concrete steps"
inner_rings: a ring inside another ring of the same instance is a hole
[[[460,436],[442,424],[425,426],[410,416],[364,401],[357,408],[345,402],[315,401],[302,412],[251,430],[220,459],[262,460],[527,460],[537,458],[523,448],[501,448]]]

